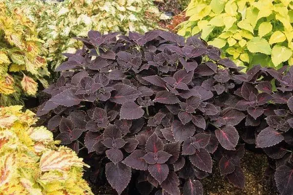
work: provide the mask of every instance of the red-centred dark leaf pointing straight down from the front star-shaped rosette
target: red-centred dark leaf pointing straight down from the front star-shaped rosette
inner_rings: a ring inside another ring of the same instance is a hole
[[[167,164],[156,163],[153,165],[148,165],[147,170],[150,175],[159,182],[159,184],[161,184],[167,178],[169,173],[169,168]]]

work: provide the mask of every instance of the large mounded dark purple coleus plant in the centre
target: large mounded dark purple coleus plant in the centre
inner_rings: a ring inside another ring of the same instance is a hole
[[[232,108],[239,67],[198,37],[118,35],[89,31],[78,38],[83,49],[57,67],[61,77],[44,90],[51,98],[37,113],[51,116],[56,139],[76,152],[82,145],[93,160],[105,156],[105,176],[119,195],[131,177],[141,194],[202,195],[200,179],[213,166],[243,188],[236,128],[245,114]]]

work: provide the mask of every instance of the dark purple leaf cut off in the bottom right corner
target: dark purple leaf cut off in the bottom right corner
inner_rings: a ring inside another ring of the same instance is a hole
[[[281,165],[274,174],[277,189],[280,195],[293,194],[293,168],[287,165]]]

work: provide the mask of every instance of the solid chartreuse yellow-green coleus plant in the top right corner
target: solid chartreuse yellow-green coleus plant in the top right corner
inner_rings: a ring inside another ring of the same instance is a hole
[[[201,34],[237,65],[293,65],[293,2],[286,0],[191,0],[178,34]]]

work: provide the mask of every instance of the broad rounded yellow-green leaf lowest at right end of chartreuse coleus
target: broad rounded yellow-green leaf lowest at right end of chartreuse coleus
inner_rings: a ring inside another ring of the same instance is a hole
[[[272,48],[272,63],[275,66],[284,61],[287,61],[291,56],[292,50],[287,47],[275,45]]]

